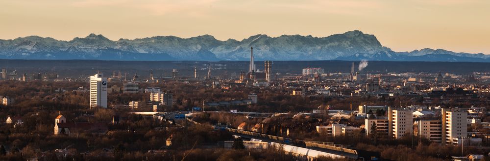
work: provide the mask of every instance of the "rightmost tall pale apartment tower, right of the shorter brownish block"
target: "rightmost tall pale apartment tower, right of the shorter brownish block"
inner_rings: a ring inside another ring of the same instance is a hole
[[[442,109],[442,143],[458,143],[457,138],[466,138],[467,113],[457,112],[457,109]]]

